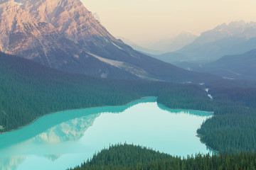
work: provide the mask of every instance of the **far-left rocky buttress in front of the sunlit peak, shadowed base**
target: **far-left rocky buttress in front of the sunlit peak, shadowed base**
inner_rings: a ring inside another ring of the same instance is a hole
[[[0,11],[2,52],[54,66],[57,59],[51,53],[70,48],[52,24],[37,21],[14,1],[1,1]]]

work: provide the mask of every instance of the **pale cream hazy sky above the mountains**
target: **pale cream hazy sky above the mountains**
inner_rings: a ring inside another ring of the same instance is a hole
[[[200,34],[221,23],[256,21],[256,0],[81,0],[114,36],[139,45]]]

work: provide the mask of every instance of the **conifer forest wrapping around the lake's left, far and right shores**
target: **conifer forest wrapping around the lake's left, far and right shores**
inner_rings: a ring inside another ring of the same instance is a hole
[[[213,118],[198,130],[202,142],[209,147],[223,153],[255,151],[254,84],[241,87],[241,82],[223,80],[200,86],[97,79],[60,72],[3,53],[0,53],[0,73],[0,125],[4,127],[1,132],[56,111],[123,105],[144,96],[158,96],[158,102],[169,108],[214,111]],[[206,87],[210,88],[213,100],[207,96]]]

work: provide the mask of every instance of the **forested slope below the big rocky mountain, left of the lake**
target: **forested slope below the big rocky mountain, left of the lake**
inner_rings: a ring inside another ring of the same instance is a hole
[[[55,111],[123,105],[144,96],[159,96],[166,89],[175,91],[189,86],[161,81],[98,79],[60,72],[3,53],[0,72],[0,125],[4,127],[1,132]],[[206,96],[201,86],[193,88]]]

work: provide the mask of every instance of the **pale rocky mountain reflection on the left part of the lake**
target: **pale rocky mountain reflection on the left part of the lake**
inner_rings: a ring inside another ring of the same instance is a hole
[[[45,144],[59,144],[61,142],[68,141],[77,141],[84,134],[87,128],[89,128],[95,118],[97,118],[100,114],[94,115],[86,115],[82,118],[75,118],[73,120],[68,120],[65,123],[60,123],[59,125],[55,125],[52,128],[46,130],[46,132],[42,132],[36,137],[32,137],[30,140],[26,142],[21,142],[18,145],[14,145],[11,147],[7,147],[7,149],[0,150],[0,169],[2,170],[13,170],[18,168],[18,164],[21,164],[26,159],[26,154],[31,154],[31,150],[28,149],[29,146],[37,145],[43,147]],[[32,154],[40,154],[41,149],[38,147],[33,148]],[[5,157],[7,152],[14,152],[13,154],[23,154],[23,156],[15,156],[15,157]],[[15,152],[16,151],[16,152]],[[42,153],[43,154],[43,153]],[[51,162],[57,160],[61,155],[60,154],[48,154],[46,157]]]

